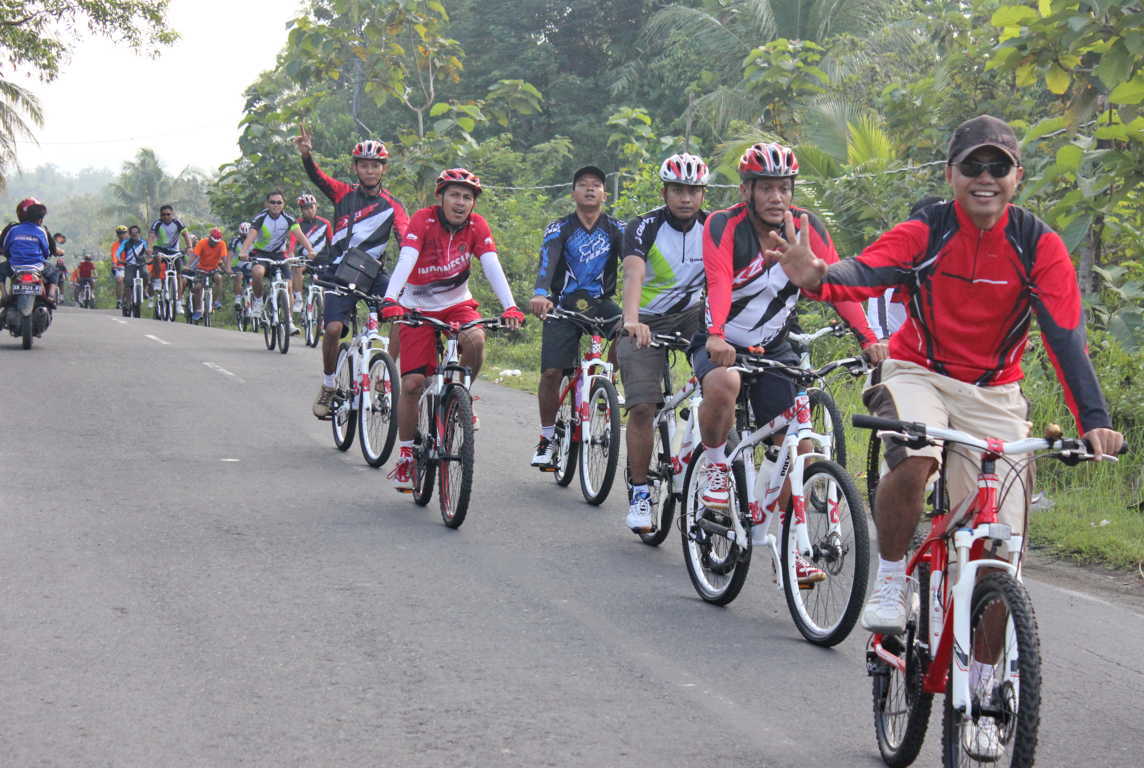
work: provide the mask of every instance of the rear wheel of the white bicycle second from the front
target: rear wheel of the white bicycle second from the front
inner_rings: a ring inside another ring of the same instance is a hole
[[[688,577],[696,593],[705,602],[726,605],[739,596],[747,580],[747,572],[750,570],[750,538],[748,536],[745,546],[740,546],[699,526],[696,515],[699,501],[699,469],[706,465],[707,459],[700,445],[691,454],[688,474],[683,481],[683,504],[680,508],[683,562],[688,567]],[[742,466],[739,462],[731,467],[730,498],[731,506],[725,513],[705,509],[704,518],[726,526],[730,515],[742,517],[747,508],[747,491]]]

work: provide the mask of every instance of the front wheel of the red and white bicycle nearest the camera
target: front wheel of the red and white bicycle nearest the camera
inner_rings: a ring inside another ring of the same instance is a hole
[[[1027,768],[1036,757],[1038,728],[1041,720],[1041,642],[1036,632],[1036,616],[1025,586],[1008,572],[983,576],[974,585],[972,608],[969,618],[969,648],[976,647],[977,630],[985,611],[994,604],[1008,610],[1006,640],[1011,636],[1016,649],[1004,648],[999,664],[1001,683],[998,683],[986,704],[1002,713],[998,726],[999,746],[1004,754],[990,760],[975,758],[966,749],[962,728],[971,725],[961,712],[953,710],[953,697],[945,696],[945,713],[942,718],[942,765],[946,768],[990,765]],[[1006,643],[1008,646],[1008,642]],[[1009,654],[1016,650],[1017,658]],[[972,652],[972,651],[970,651]],[[994,680],[998,679],[994,671]],[[951,680],[953,675],[951,672]],[[970,691],[975,708],[979,705],[979,691]]]

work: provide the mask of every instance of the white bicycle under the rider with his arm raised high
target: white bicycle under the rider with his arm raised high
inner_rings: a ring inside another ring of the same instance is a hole
[[[378,333],[378,311],[373,306],[378,296],[353,286],[315,280],[316,285],[341,295],[356,296],[370,304],[370,319],[365,330],[337,353],[334,380],[337,391],[329,406],[334,445],[348,451],[358,430],[362,458],[371,467],[386,464],[397,440],[397,396],[400,379],[397,365],[389,356],[389,338]]]

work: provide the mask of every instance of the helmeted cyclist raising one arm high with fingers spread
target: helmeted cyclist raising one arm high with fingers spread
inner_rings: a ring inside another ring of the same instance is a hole
[[[310,181],[321,190],[334,204],[333,231],[329,236],[329,261],[335,268],[345,258],[350,248],[360,248],[375,259],[381,269],[373,285],[358,286],[365,293],[381,295],[389,285],[389,272],[386,270],[386,244],[390,235],[400,243],[408,228],[408,216],[405,208],[389,190],[381,185],[382,177],[389,164],[389,150],[380,141],[367,138],[358,142],[350,150],[350,169],[358,183],[347,184],[323,173],[315,163],[311,151],[313,142],[305,126],[300,126],[294,138],[302,156],[302,165]],[[357,299],[327,291],[323,296],[323,317],[325,334],[321,339],[321,387],[313,401],[312,413],[318,419],[329,418],[329,404],[333,402],[334,369],[337,366],[337,345],[345,332],[350,315],[357,307]],[[390,353],[397,356],[396,331],[390,333]]]

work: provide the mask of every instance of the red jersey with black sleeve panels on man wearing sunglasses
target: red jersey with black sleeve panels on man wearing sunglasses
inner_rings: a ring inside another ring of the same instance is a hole
[[[1019,381],[1035,315],[1078,428],[1111,426],[1068,251],[1028,211],[1010,205],[980,230],[956,203],[922,208],[856,259],[832,264],[807,294],[858,300],[891,286],[908,316],[890,339],[890,357],[978,386]]]

